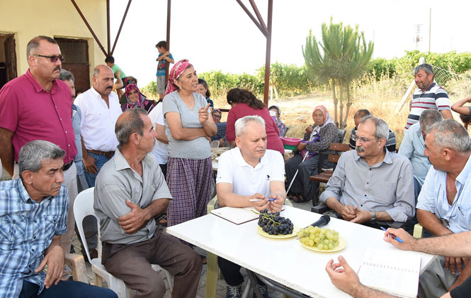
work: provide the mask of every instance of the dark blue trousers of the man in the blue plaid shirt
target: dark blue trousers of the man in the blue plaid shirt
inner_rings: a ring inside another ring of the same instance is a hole
[[[19,298],[118,298],[118,295],[110,289],[68,280],[61,280],[57,285],[52,284],[49,289],[44,288],[39,295],[38,290],[38,285],[23,280]]]

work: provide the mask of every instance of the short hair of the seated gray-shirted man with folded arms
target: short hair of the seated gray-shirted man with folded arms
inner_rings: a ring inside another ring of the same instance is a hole
[[[124,111],[123,115],[118,118],[115,125],[116,138],[118,138],[120,143],[118,149],[129,143],[132,133],[144,136],[144,121],[142,121],[141,115],[147,116],[147,111],[141,108],[133,108]]]

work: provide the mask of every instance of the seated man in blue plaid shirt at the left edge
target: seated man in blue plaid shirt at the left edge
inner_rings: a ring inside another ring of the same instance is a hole
[[[0,297],[118,298],[110,289],[60,280],[69,211],[64,154],[46,140],[30,141],[18,155],[20,177],[0,182]]]

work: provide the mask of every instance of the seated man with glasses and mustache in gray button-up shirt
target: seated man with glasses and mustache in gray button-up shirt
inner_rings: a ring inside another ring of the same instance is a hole
[[[346,221],[379,228],[377,221],[405,222],[414,216],[412,165],[386,150],[388,134],[384,120],[361,118],[356,150],[340,156],[319,198]]]

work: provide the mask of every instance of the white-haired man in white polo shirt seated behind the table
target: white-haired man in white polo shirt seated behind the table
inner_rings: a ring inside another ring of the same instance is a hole
[[[278,151],[266,149],[265,121],[260,116],[239,118],[235,122],[235,134],[237,147],[222,153],[217,167],[220,206],[254,206],[258,211],[281,211],[286,199],[285,166]],[[239,272],[241,266],[223,258],[217,258],[217,263],[227,282],[226,297],[241,297],[244,282]],[[268,297],[266,286],[258,287],[263,297]]]

